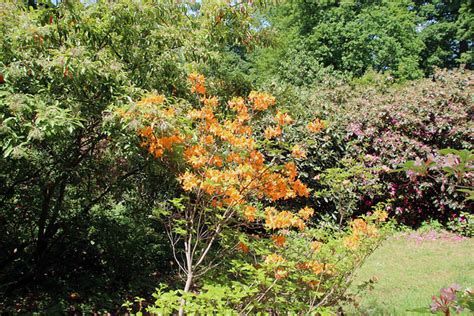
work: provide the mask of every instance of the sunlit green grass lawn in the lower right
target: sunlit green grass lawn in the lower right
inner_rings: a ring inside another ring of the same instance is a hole
[[[453,283],[474,287],[474,239],[423,240],[396,235],[377,249],[357,272],[350,291],[376,277],[350,315],[422,315],[407,309],[428,306],[431,296]],[[463,313],[469,315],[468,313]]]

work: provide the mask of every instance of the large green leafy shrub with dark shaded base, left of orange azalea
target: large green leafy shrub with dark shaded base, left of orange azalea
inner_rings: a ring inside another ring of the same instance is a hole
[[[0,4],[0,310],[111,311],[170,277],[152,212],[177,186],[111,112],[147,90],[189,97],[189,68],[218,68],[234,45],[253,45],[253,8],[36,7]]]

